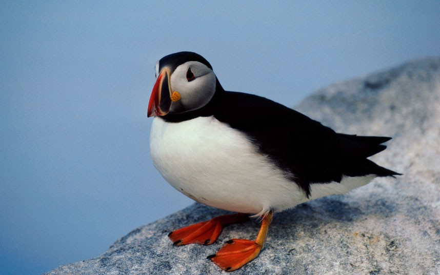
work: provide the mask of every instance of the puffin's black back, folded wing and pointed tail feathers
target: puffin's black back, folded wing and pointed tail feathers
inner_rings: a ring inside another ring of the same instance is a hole
[[[341,182],[344,175],[398,174],[367,159],[391,138],[339,134],[261,96],[223,92],[215,101],[216,119],[244,132],[307,195],[310,184]]]

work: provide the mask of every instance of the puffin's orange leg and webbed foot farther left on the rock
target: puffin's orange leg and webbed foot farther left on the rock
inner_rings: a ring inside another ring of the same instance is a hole
[[[230,214],[218,216],[206,222],[196,223],[168,234],[174,245],[213,244],[225,226],[247,220],[246,214]]]

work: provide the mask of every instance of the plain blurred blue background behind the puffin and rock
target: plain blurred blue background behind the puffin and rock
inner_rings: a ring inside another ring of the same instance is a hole
[[[440,55],[438,1],[0,3],[0,270],[96,257],[192,201],[149,156],[154,65],[195,51],[223,87],[292,106]]]

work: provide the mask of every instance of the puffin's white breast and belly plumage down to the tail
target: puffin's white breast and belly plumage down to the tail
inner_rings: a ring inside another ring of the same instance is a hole
[[[179,123],[155,117],[150,151],[154,166],[174,188],[209,206],[262,215],[308,200],[243,133],[212,116]],[[345,193],[372,178],[313,184],[310,199]]]

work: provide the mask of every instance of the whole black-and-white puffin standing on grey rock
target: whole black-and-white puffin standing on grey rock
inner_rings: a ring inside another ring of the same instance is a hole
[[[197,53],[169,54],[155,72],[147,114],[155,168],[194,201],[235,212],[172,231],[173,244],[210,245],[225,226],[261,219],[255,240],[229,240],[207,257],[223,270],[258,256],[274,213],[399,175],[368,159],[391,138],[337,133],[265,97],[226,91]]]

